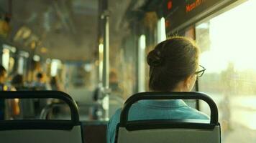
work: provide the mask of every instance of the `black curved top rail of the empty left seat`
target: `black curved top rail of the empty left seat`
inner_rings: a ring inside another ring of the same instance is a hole
[[[61,99],[70,108],[71,121],[79,122],[78,106],[70,95],[58,91],[17,91],[0,92],[0,99]]]

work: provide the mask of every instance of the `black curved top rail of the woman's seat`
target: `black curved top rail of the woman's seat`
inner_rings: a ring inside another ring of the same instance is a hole
[[[128,122],[129,109],[132,107],[132,104],[140,100],[151,100],[151,99],[200,99],[209,104],[211,109],[211,124],[218,124],[219,113],[218,108],[207,94],[201,92],[142,92],[132,95],[124,103],[124,107],[120,116],[120,126],[126,127]]]

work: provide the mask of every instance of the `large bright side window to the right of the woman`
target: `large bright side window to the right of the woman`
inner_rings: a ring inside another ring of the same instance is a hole
[[[196,26],[206,67],[199,91],[219,106],[224,143],[256,142],[255,13],[256,1],[251,0]]]

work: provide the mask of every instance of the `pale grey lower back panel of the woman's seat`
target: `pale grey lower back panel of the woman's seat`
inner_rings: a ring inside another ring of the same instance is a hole
[[[127,131],[119,127],[118,143],[220,143],[220,127],[206,129],[147,129]]]

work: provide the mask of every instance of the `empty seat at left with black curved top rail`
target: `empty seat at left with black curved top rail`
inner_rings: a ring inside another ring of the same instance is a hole
[[[78,107],[63,92],[19,91],[0,92],[0,99],[61,99],[70,107],[71,120],[8,120],[0,121],[0,139],[4,143],[83,143]]]

